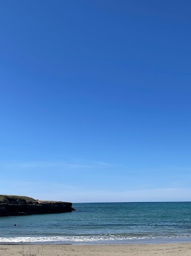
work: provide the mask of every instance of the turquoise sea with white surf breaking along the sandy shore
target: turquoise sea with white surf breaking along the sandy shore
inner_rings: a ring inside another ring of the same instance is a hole
[[[78,203],[73,207],[72,213],[1,217],[0,242],[191,242],[191,202]]]

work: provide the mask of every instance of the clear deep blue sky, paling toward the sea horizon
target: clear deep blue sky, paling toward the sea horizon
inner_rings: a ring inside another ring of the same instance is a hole
[[[191,201],[191,2],[0,2],[0,194]]]

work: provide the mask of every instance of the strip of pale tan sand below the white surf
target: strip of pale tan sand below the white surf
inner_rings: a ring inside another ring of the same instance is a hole
[[[1,256],[191,256],[191,243],[152,245],[0,245]]]

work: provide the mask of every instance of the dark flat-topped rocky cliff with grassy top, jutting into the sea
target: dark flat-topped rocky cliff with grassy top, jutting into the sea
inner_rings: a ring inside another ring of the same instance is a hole
[[[72,212],[72,203],[39,201],[31,197],[0,195],[0,216]]]

